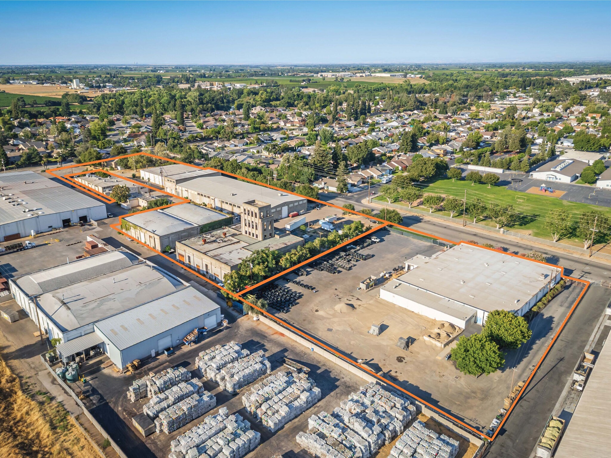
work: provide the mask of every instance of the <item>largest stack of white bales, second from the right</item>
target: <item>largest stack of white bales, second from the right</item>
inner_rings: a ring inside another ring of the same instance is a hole
[[[414,414],[409,399],[372,382],[350,394],[331,415],[312,415],[307,434],[300,432],[297,442],[321,458],[368,458],[401,434]]]

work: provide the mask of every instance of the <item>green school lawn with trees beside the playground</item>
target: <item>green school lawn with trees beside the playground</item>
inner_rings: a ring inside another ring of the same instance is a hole
[[[565,209],[569,212],[569,217],[573,222],[579,220],[579,216],[582,213],[591,210],[598,210],[607,216],[611,217],[611,208],[588,205],[580,202],[569,202],[568,200],[560,200],[555,197],[547,197],[545,195],[526,194],[525,192],[511,191],[502,186],[492,186],[488,188],[487,184],[475,184],[471,186],[470,181],[452,181],[437,180],[428,185],[422,186],[423,191],[430,194],[443,194],[446,196],[453,196],[458,198],[464,198],[464,191],[467,190],[467,202],[471,202],[475,198],[479,198],[486,202],[488,205],[507,206],[513,205],[513,208],[518,212],[521,217],[518,224],[511,228],[516,232],[527,233],[535,237],[551,240],[549,231],[545,228],[545,217],[549,211],[554,209]],[[375,200],[384,203],[388,202],[386,198],[378,196]],[[395,202],[396,205],[404,205],[408,208],[408,205],[403,202]],[[421,207],[419,209],[428,211],[427,208]],[[450,216],[448,212],[438,211],[437,214],[443,214]],[[458,212],[461,215],[461,212]],[[457,214],[455,214],[456,217]],[[480,224],[489,225],[496,227],[493,221],[481,220],[478,221]],[[567,238],[563,242],[569,242],[574,245],[581,245],[581,242],[576,238]]]

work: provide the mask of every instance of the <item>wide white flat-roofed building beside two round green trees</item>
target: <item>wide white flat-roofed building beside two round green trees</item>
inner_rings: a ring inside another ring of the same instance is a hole
[[[415,256],[406,269],[380,288],[380,298],[463,329],[483,325],[492,310],[524,315],[561,275],[558,267],[466,244]]]

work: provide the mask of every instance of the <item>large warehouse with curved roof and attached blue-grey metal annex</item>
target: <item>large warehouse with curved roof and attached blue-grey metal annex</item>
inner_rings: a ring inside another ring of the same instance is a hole
[[[218,305],[124,249],[9,280],[11,293],[62,358],[100,346],[119,368],[216,327]]]

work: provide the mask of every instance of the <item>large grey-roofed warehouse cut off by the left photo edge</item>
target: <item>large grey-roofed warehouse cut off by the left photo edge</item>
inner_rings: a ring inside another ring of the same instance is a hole
[[[0,175],[0,242],[106,218],[106,205],[35,172]]]

